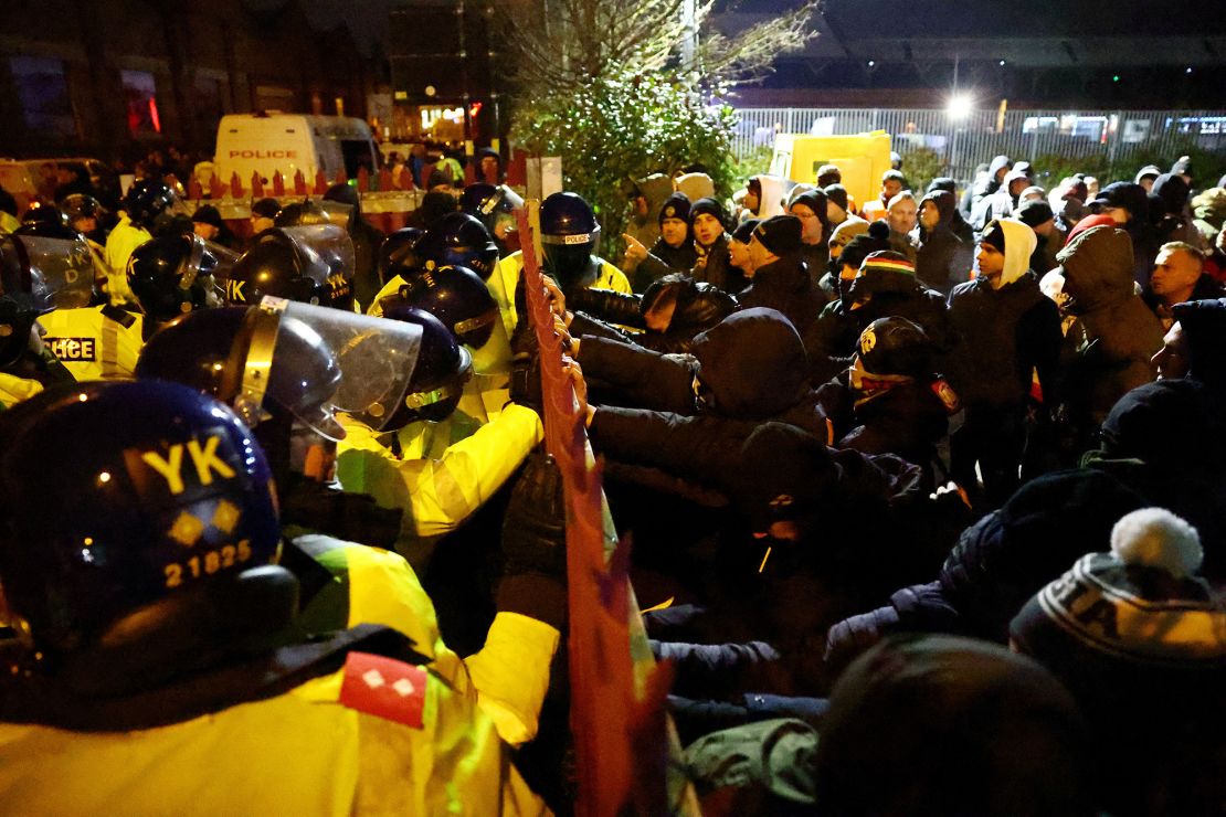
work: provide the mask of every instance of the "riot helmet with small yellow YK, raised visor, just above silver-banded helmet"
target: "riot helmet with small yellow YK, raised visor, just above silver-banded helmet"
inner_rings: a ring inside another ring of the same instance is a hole
[[[256,304],[265,295],[303,304],[353,309],[353,241],[332,224],[273,228],[234,263],[228,304]]]

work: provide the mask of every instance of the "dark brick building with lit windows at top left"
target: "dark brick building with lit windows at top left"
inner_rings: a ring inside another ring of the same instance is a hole
[[[0,156],[212,151],[227,113],[365,116],[370,71],[300,0],[0,2]]]

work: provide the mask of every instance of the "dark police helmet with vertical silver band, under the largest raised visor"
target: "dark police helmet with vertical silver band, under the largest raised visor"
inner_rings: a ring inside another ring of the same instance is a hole
[[[261,337],[265,333],[273,339]],[[260,348],[270,343],[272,348]],[[261,365],[255,359],[260,355],[268,360],[266,380],[260,404],[250,407],[257,410],[244,412],[248,424],[257,426],[261,412],[289,414],[325,436],[337,436],[338,426],[325,408],[341,382],[336,355],[302,321],[265,318],[259,306],[224,306],[177,317],[141,349],[136,377],[184,383],[234,408],[243,398],[244,378]]]

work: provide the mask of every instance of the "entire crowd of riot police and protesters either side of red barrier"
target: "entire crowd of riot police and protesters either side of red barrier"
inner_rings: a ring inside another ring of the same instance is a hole
[[[647,176],[618,263],[541,205],[680,768],[711,813],[1221,813],[1226,179],[897,164]],[[0,200],[13,811],[569,811],[522,202],[435,173],[391,235],[349,185]]]

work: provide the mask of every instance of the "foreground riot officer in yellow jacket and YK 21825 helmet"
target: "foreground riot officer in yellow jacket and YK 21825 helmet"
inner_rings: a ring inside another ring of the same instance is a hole
[[[27,633],[0,695],[11,808],[544,811],[478,706],[484,669],[379,625],[289,639],[271,474],[223,404],[89,383],[7,413],[0,441],[0,582]]]

